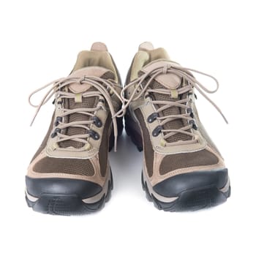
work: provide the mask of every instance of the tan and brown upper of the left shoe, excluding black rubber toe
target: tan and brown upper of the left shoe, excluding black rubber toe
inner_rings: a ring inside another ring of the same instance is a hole
[[[122,129],[115,116],[121,108],[121,80],[106,46],[96,42],[81,51],[70,75],[53,81],[52,91],[55,111],[27,177],[69,178],[103,187],[110,178],[110,137]],[[41,105],[45,102],[46,97]]]

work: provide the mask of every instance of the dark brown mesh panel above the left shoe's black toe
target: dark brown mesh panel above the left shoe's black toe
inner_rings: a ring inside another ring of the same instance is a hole
[[[34,166],[37,173],[68,173],[93,176],[94,167],[89,159],[67,159],[45,157]]]

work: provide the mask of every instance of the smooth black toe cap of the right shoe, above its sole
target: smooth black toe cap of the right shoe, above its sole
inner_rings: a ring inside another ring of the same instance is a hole
[[[222,189],[228,181],[227,169],[194,171],[183,173],[156,184],[153,189],[164,197],[176,197],[181,192],[189,189],[201,189],[204,187],[217,187]]]

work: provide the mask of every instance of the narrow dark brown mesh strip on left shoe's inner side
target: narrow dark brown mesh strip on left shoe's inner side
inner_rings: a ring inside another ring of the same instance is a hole
[[[99,167],[100,173],[103,177],[106,175],[108,165],[108,143],[109,143],[109,131],[110,131],[111,118],[108,116],[104,130],[102,133],[102,141],[99,146]]]

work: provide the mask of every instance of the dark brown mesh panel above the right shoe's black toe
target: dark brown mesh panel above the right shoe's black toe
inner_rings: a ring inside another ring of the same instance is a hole
[[[162,159],[159,173],[164,175],[180,168],[216,165],[218,162],[219,159],[206,149],[192,153],[169,154]]]

